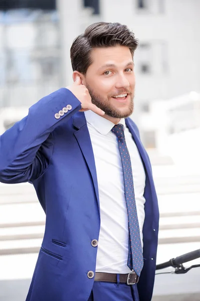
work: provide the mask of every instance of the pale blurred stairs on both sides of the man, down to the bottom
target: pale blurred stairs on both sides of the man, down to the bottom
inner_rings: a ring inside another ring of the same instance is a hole
[[[155,165],[153,175],[160,209],[156,262],[161,263],[199,248],[200,175],[187,175],[173,165]],[[0,300],[26,298],[44,231],[45,213],[34,187],[28,183],[0,183]],[[192,264],[199,262],[196,259]],[[155,277],[154,301],[174,301],[177,297],[185,301],[187,296],[197,300],[199,293],[197,268],[189,275]]]

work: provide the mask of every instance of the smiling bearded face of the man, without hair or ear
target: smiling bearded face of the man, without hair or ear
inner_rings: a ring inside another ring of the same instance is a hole
[[[95,48],[91,58],[92,64],[83,78],[83,84],[88,88],[92,102],[110,117],[130,116],[133,112],[135,75],[129,48]]]

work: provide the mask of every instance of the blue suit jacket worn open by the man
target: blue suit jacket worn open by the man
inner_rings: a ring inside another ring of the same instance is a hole
[[[71,104],[60,119],[55,113]],[[92,144],[80,101],[62,88],[34,104],[29,114],[0,136],[0,181],[31,182],[46,212],[46,228],[27,301],[87,301],[99,237],[98,183]],[[135,123],[126,119],[145,172],[144,267],[140,301],[153,290],[158,204],[148,156]]]

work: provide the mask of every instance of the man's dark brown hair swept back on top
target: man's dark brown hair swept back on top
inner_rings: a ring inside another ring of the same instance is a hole
[[[120,23],[99,22],[88,26],[84,34],[78,36],[71,47],[72,69],[86,74],[92,64],[91,50],[100,47],[127,46],[133,57],[138,46],[134,33]]]

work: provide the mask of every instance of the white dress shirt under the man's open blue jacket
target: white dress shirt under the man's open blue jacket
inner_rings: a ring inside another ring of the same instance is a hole
[[[128,217],[121,157],[116,136],[111,132],[114,123],[91,110],[85,112],[85,117],[94,152],[100,201],[101,227],[96,272],[129,273],[130,269],[127,266]],[[124,126],[124,135],[131,159],[137,216],[143,246],[145,172],[132,134],[125,125],[125,119],[122,118],[119,123]]]

